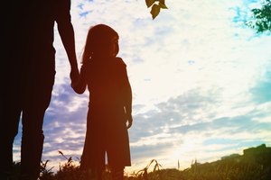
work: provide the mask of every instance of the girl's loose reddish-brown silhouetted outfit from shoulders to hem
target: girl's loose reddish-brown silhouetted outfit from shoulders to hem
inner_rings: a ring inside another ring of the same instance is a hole
[[[87,132],[81,167],[131,166],[125,104],[131,86],[121,58],[90,59],[81,67],[89,88]]]

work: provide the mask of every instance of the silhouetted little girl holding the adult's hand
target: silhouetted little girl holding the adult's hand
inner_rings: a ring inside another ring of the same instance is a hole
[[[123,179],[125,166],[131,166],[127,129],[132,125],[132,91],[126,64],[117,58],[118,34],[105,24],[89,29],[82,56],[76,93],[89,89],[89,112],[82,169],[101,179],[108,165],[113,179]],[[127,122],[127,123],[126,123]]]

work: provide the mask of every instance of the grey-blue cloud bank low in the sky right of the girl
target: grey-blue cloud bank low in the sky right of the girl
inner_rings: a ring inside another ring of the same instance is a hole
[[[238,105],[229,106],[220,117],[218,106],[227,107],[220,95],[220,91],[195,89],[155,104],[154,110],[136,114],[130,130],[132,152],[136,149],[136,157],[149,157],[145,152],[155,148],[149,158],[162,160],[167,166],[180,158],[189,166],[193,157],[200,161],[214,159],[210,152],[220,158],[255,144],[270,143],[270,121],[254,121],[265,111],[250,103],[247,106],[252,108],[246,111]],[[140,162],[141,158],[135,159],[135,164]]]

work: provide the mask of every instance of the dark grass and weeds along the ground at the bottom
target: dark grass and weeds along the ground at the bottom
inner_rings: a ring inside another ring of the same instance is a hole
[[[67,162],[59,166],[56,173],[47,168],[50,161],[41,164],[41,180],[87,180],[89,172],[79,169],[71,157],[62,157]],[[184,170],[177,168],[163,168],[157,160],[153,159],[142,170],[126,175],[126,180],[270,180],[271,179],[271,148],[263,144],[256,148],[244,149],[244,155],[232,154],[221,157],[220,160],[201,164],[197,160]],[[179,163],[178,163],[179,164]],[[14,163],[14,179],[19,175],[20,163]],[[179,168],[179,167],[178,167]],[[104,179],[111,180],[110,168],[104,172]]]

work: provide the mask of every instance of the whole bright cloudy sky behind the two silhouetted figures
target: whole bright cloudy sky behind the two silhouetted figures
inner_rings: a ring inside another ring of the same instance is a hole
[[[244,22],[252,0],[166,0],[153,20],[144,0],[71,0],[80,58],[89,27],[105,23],[119,38],[133,91],[132,166],[156,159],[187,168],[244,148],[271,146],[271,36]],[[89,92],[70,88],[70,65],[55,29],[56,77],[43,122],[42,161],[58,170],[84,146]],[[14,141],[20,159],[22,125]]]

